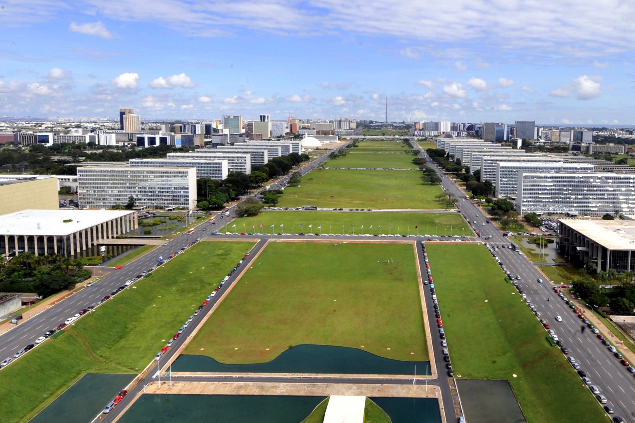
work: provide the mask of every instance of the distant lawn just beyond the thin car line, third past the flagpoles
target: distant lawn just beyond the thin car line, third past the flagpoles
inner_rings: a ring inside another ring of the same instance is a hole
[[[352,150],[352,151],[351,151]],[[396,168],[396,169],[418,169],[417,164],[412,163],[413,156],[405,152],[393,151],[358,151],[357,149],[347,150],[345,157],[330,159],[324,166],[327,168]]]

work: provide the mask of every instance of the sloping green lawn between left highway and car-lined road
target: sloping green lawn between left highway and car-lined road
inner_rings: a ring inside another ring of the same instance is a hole
[[[251,246],[197,243],[4,368],[0,420],[27,421],[86,372],[138,373]]]

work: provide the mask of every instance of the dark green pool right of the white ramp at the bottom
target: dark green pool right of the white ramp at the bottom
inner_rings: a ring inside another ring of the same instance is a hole
[[[392,423],[441,423],[436,398],[370,397],[391,418]]]

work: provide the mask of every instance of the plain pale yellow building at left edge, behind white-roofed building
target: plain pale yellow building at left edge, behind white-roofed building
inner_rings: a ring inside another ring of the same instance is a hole
[[[15,211],[57,210],[57,178],[49,175],[0,175],[0,215]]]

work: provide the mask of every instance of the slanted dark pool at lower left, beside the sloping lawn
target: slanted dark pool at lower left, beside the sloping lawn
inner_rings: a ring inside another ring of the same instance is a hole
[[[86,423],[136,375],[86,373],[66,392],[50,403],[30,423]]]

